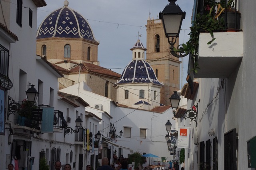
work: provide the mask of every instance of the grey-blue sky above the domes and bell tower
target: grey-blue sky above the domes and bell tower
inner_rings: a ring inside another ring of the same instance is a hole
[[[64,0],[45,0],[47,6],[38,8],[37,28],[54,10],[64,6]],[[132,60],[130,48],[138,40],[146,48],[146,24],[149,18],[158,19],[168,0],[68,0],[69,7],[89,23],[98,46],[100,66],[122,74]],[[177,0],[186,12],[180,31],[180,44],[188,41],[194,0]],[[180,59],[180,88],[186,83],[188,56]],[[183,68],[183,69],[182,69]]]

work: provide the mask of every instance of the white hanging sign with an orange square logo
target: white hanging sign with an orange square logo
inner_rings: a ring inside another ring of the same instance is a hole
[[[189,148],[190,127],[178,127],[177,148]]]

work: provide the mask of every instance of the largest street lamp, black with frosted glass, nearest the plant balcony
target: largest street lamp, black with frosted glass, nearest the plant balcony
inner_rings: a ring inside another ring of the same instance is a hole
[[[167,5],[164,10],[159,13],[159,18],[162,20],[163,23],[165,37],[168,38],[171,54],[177,58],[180,58],[188,54],[186,54],[182,50],[179,52],[175,52],[174,44],[179,37],[182,20],[185,19],[186,12],[182,12],[180,7],[175,4],[177,0],[168,1],[170,2],[169,5]],[[182,45],[178,45],[178,47],[179,46]]]

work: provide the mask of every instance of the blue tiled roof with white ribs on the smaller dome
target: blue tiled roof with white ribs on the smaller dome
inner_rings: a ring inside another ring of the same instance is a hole
[[[122,76],[116,85],[131,83],[157,84],[164,86],[158,81],[154,70],[145,60],[132,60],[124,69]]]

